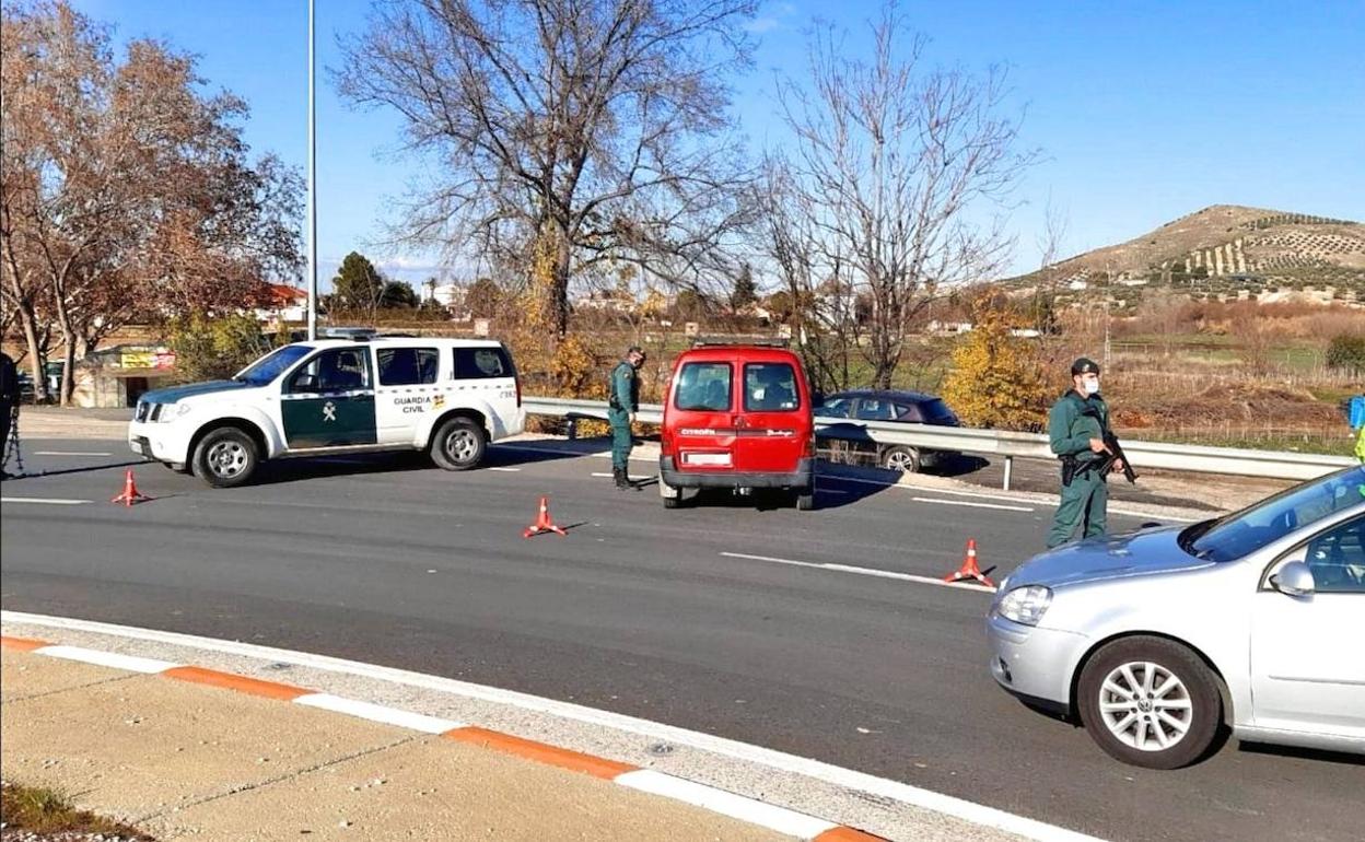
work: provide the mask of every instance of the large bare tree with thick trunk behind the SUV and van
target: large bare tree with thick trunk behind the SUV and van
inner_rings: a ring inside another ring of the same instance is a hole
[[[430,179],[399,239],[476,247],[568,329],[571,277],[698,282],[741,218],[726,71],[755,0],[394,0],[343,44],[341,93],[394,108]]]

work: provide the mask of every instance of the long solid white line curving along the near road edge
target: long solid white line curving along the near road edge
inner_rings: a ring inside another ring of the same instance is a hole
[[[214,640],[212,637],[197,637],[176,632],[158,632],[154,629],[139,629],[105,622],[93,622],[87,620],[68,620],[66,617],[45,617],[42,614],[25,614],[20,611],[0,610],[0,622],[29,624],[75,632],[91,632],[96,635],[111,635],[131,640],[150,640],[209,652],[227,652],[270,663],[293,663],[296,666],[306,666],[332,673],[360,676],[364,678],[375,678],[379,681],[392,681],[394,684],[405,684],[410,686],[455,693],[470,699],[491,701],[494,704],[506,704],[550,716],[573,719],[576,722],[584,722],[599,727],[640,734],[651,741],[687,745],[698,751],[767,766],[768,768],[793,775],[805,775],[834,786],[842,786],[871,796],[880,796],[883,798],[890,798],[893,801],[900,801],[921,809],[931,809],[964,819],[966,822],[973,822],[984,827],[994,827],[996,830],[1013,832],[1029,839],[1037,839],[1039,842],[1099,842],[1095,837],[1066,830],[1065,827],[1018,816],[994,807],[966,801],[965,798],[945,796],[943,793],[935,793],[909,783],[901,783],[900,781],[878,778],[875,775],[868,775],[867,772],[859,772],[820,760],[778,752],[760,745],[740,742],[737,740],[726,740],[725,737],[715,737],[713,734],[703,734],[699,731],[689,731],[672,725],[625,716],[610,711],[599,711],[581,704],[571,704],[568,701],[556,701],[553,699],[531,696],[530,693],[517,693],[515,691],[504,691],[501,688],[472,684],[468,681],[397,670],[393,667],[360,663],[356,660],[344,660],[341,658],[330,658],[326,655],[313,655],[308,652],[277,650],[250,643]]]

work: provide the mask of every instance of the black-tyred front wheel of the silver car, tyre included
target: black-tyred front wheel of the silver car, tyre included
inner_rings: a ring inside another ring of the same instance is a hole
[[[1223,721],[1213,674],[1186,647],[1163,637],[1125,637],[1081,673],[1085,730],[1110,756],[1147,768],[1200,760]]]

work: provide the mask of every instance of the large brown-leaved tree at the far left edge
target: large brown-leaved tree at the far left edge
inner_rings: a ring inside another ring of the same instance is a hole
[[[53,329],[61,398],[75,360],[130,319],[242,306],[298,272],[300,179],[255,165],[231,94],[202,97],[194,60],[108,31],[66,3],[7,7],[3,23],[4,284],[33,355]]]

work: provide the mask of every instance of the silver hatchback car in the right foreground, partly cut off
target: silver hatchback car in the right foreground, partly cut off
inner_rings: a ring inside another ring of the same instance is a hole
[[[987,632],[1002,688],[1126,763],[1194,763],[1224,727],[1365,753],[1365,467],[1037,555]]]

